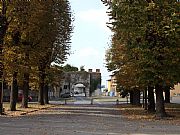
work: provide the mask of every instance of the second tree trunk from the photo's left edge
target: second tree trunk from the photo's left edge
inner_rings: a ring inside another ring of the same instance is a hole
[[[16,111],[16,103],[18,99],[18,85],[17,85],[17,72],[13,73],[13,82],[11,87],[11,97],[10,97],[10,110]]]

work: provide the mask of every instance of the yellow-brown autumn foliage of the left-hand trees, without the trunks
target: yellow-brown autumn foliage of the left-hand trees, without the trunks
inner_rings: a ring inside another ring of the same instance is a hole
[[[14,71],[18,71],[21,81],[22,74],[30,72],[32,85],[37,86],[39,61],[47,67],[52,61],[64,61],[68,54],[72,31],[69,2],[11,1],[6,16],[9,25],[4,38],[3,62],[7,80],[11,79]],[[14,35],[15,31],[19,32],[19,36]],[[60,73],[57,71],[54,74]]]

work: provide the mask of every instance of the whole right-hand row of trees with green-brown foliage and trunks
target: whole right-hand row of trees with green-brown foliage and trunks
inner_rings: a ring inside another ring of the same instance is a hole
[[[148,88],[149,109],[166,116],[163,91],[180,82],[179,1],[102,2],[108,6],[108,26],[114,32],[106,52],[107,68],[124,90]]]

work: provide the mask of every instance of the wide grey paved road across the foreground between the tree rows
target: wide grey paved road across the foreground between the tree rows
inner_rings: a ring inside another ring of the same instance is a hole
[[[22,117],[1,117],[0,135],[178,134],[179,124],[129,121],[115,105],[57,105]]]

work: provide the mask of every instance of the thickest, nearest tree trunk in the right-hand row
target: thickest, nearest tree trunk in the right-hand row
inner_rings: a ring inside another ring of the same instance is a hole
[[[156,85],[156,117],[166,117],[163,88],[160,85]]]

